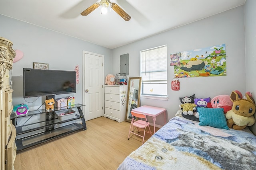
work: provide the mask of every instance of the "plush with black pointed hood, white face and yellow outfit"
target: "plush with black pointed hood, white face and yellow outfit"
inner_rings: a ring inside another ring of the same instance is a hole
[[[193,108],[196,107],[194,104],[195,94],[192,96],[186,96],[184,98],[180,98],[180,102],[182,103],[179,107],[182,109],[182,113],[184,115],[193,115]]]

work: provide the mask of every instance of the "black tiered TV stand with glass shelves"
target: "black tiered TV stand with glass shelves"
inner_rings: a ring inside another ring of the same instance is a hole
[[[84,105],[75,104],[74,106],[61,108],[55,107],[54,111],[48,112],[45,109],[38,109],[28,111],[26,115],[19,116],[12,113],[10,117],[17,131],[17,152],[78,130],[86,130],[84,114],[81,109],[82,106]],[[75,116],[70,119],[58,119],[55,112],[64,112],[68,111],[68,109],[76,111]],[[40,121],[38,121],[38,117],[41,119]],[[80,120],[82,123],[76,123]]]

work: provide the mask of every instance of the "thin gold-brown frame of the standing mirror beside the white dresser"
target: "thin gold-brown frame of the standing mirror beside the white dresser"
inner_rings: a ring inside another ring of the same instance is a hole
[[[131,107],[129,108],[129,102],[132,102],[132,101],[129,101],[129,99],[130,99],[130,84],[131,84],[132,80],[139,80],[137,106],[134,107],[134,108],[140,107],[141,77],[129,77],[129,81],[128,81],[128,95],[127,95],[127,104],[126,104],[126,115],[125,115],[125,121],[128,121],[128,122],[132,121],[132,119],[129,119],[129,114],[130,114],[130,110],[131,110]]]

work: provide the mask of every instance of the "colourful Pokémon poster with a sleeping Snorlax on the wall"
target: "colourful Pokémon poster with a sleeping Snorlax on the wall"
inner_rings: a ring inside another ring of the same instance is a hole
[[[176,78],[226,76],[226,45],[180,52],[174,74]]]

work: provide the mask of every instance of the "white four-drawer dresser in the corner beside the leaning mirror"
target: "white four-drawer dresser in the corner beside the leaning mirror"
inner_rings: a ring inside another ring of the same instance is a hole
[[[128,86],[104,86],[105,114],[119,123],[125,120]]]

